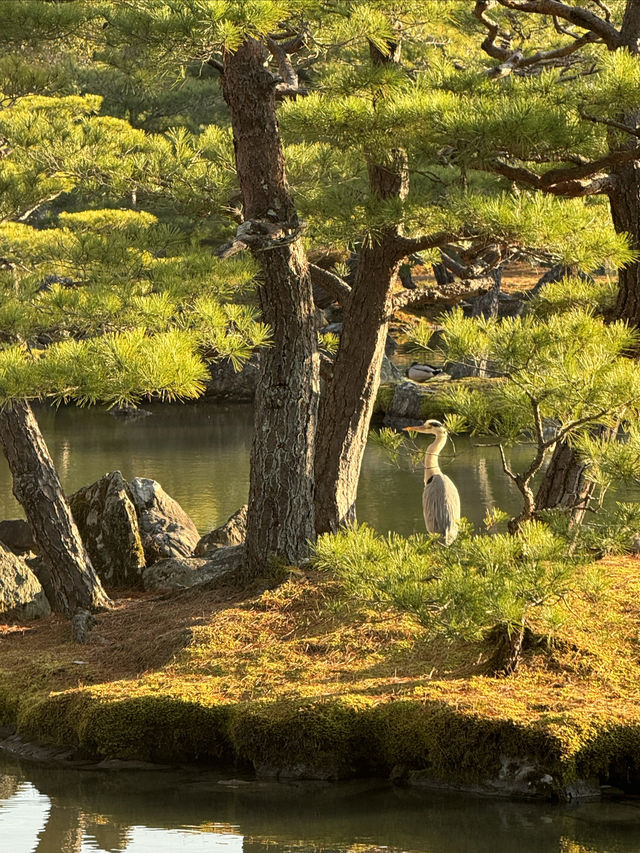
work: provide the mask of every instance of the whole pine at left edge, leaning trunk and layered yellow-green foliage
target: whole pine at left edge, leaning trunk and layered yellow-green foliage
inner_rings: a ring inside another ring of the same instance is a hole
[[[75,17],[62,19],[51,18],[47,4],[11,5],[15,14],[3,32],[9,42],[21,23],[38,38],[59,35],[58,25],[86,24],[75,4]],[[251,310],[223,304],[253,269],[225,265],[218,276],[221,263],[192,246],[188,231],[163,228],[141,212],[56,216],[56,206],[117,204],[123,194],[135,199],[138,190],[155,196],[167,165],[180,199],[185,146],[179,137],[172,144],[95,115],[100,98],[62,94],[73,89],[73,69],[37,67],[36,43],[29,45],[31,64],[17,53],[2,66],[0,439],[42,554],[45,591],[54,609],[71,616],[109,600],[27,401],[119,404],[143,395],[194,396],[207,376],[205,353],[239,363],[265,342],[266,330]],[[197,153],[188,159],[189,179],[200,171],[206,181]]]

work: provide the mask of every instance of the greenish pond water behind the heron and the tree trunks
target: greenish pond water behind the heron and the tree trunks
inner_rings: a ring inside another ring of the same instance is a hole
[[[127,479],[158,480],[205,533],[222,524],[247,500],[252,436],[250,406],[200,403],[148,406],[153,415],[123,422],[99,409],[39,408],[37,417],[67,493],[94,482],[107,471]],[[425,448],[430,439],[417,443]],[[462,513],[479,525],[487,508],[520,507],[517,491],[505,477],[498,451],[482,440],[456,438],[441,466],[460,491]],[[531,447],[514,448],[515,467],[525,467]],[[380,531],[422,532],[422,471],[398,468],[371,443],[365,454],[357,512]],[[0,519],[21,509],[11,494],[11,478],[0,455]]]

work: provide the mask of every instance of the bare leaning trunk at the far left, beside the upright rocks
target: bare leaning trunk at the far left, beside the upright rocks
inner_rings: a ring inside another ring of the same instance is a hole
[[[53,610],[71,617],[111,602],[102,588],[71,515],[31,406],[14,401],[0,412],[0,441],[42,556],[39,580]]]

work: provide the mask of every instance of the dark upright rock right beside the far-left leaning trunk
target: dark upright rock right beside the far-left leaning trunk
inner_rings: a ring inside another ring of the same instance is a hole
[[[114,586],[139,584],[145,555],[131,490],[120,471],[78,489],[69,505],[100,579]]]

